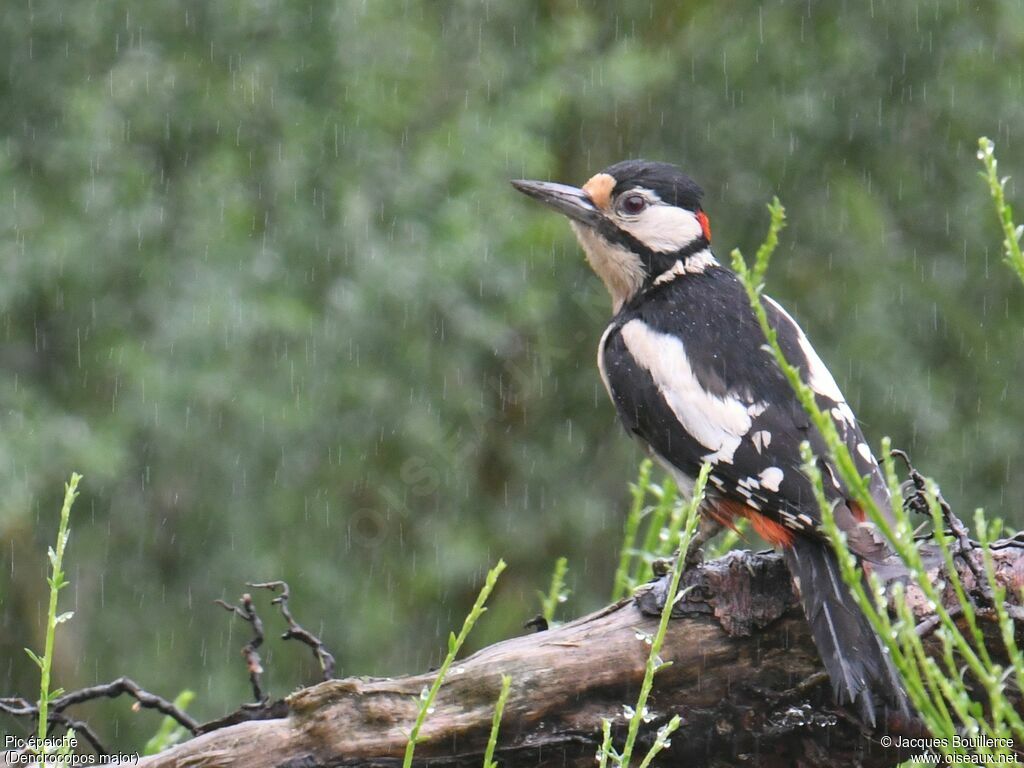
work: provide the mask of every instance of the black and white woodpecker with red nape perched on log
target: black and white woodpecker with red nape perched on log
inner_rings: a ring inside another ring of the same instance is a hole
[[[905,711],[892,662],[840,574],[824,534],[800,444],[826,456],[823,439],[766,346],[736,274],[711,250],[702,193],[666,163],[616,163],[582,188],[513,181],[568,217],[591,267],[611,294],[613,316],[597,362],[626,429],[684,490],[712,464],[702,512],[739,517],[780,547],[838,700],[874,723],[879,705]],[[796,321],[764,299],[791,364],[870,478],[883,510],[890,499],[878,462],[836,380]],[[835,468],[819,460],[836,520],[862,563],[890,550],[849,498]]]

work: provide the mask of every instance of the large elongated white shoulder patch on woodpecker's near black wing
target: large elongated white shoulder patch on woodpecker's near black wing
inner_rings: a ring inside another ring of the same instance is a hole
[[[648,328],[643,321],[632,319],[623,326],[622,337],[633,358],[651,375],[679,423],[711,452],[705,459],[731,464],[743,435],[767,404],[709,392],[697,381],[683,342]]]

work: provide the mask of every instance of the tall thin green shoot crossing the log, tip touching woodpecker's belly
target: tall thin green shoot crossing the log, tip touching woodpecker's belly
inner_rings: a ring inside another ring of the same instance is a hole
[[[665,637],[669,631],[669,620],[672,617],[672,609],[680,596],[679,583],[683,575],[683,568],[686,562],[686,553],[689,550],[690,542],[696,532],[699,522],[698,509],[703,501],[705,485],[708,482],[708,475],[711,472],[711,465],[705,464],[700,468],[693,485],[693,496],[682,510],[682,523],[680,527],[679,549],[676,552],[675,563],[672,568],[672,578],[666,594],[665,606],[662,608],[662,616],[658,621],[657,631],[652,638],[645,638],[650,642],[650,652],[644,667],[643,682],[640,684],[640,693],[637,696],[635,707],[626,708],[629,717],[629,727],[626,732],[626,742],[622,752],[617,752],[611,742],[611,723],[605,719],[602,721],[602,743],[598,752],[597,759],[600,766],[606,766],[610,759],[620,768],[628,768],[633,759],[633,750],[636,745],[637,735],[640,732],[641,723],[650,719],[647,712],[647,699],[654,685],[654,675],[660,670],[671,665],[671,662],[662,660],[662,646],[665,644]],[[641,761],[641,768],[646,768],[662,750],[669,746],[669,736],[679,727],[681,721],[678,716],[673,717],[666,725],[658,729],[647,755]]]

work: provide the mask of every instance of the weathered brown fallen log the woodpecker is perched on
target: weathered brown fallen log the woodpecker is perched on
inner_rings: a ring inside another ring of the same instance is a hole
[[[973,553],[978,556],[977,552]],[[994,552],[999,582],[1019,602],[1024,547]],[[968,589],[970,569],[962,568]],[[938,575],[942,575],[941,568]],[[948,580],[945,580],[948,582]],[[883,749],[880,737],[914,732],[911,722],[871,733],[833,702],[788,572],[775,553],[732,552],[684,574],[690,586],[674,610],[641,730],[645,754],[673,715],[683,725],[662,765],[892,766],[909,752]],[[500,689],[512,677],[497,757],[504,766],[595,765],[602,718],[622,742],[657,626],[658,590],[647,589],[545,632],[512,638],[457,663],[421,732],[417,765],[461,768],[482,762]],[[926,602],[910,590],[921,617]],[[205,733],[142,760],[148,768],[316,768],[397,766],[420,692],[433,674],[346,678],[300,690],[285,717]]]

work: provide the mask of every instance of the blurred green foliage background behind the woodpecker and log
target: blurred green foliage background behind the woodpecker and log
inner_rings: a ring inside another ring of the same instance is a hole
[[[637,460],[593,362],[608,302],[507,181],[627,157],[705,185],[723,257],[778,195],[771,292],[872,441],[1024,521],[1024,298],[975,160],[985,134],[1024,173],[1024,6],[611,7],[4,5],[0,692],[38,687],[72,469],[68,689],[233,709],[246,628],[211,601],[246,581],[287,580],[340,674],[436,665],[499,557],[477,644],[560,555],[569,610],[599,604]],[[264,657],[275,694],[315,679]],[[136,748],[159,723],[93,718]]]

